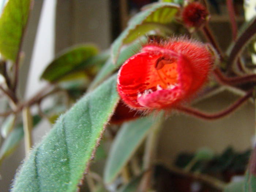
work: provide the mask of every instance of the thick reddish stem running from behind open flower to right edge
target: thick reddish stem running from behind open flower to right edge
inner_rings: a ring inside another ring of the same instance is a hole
[[[215,78],[218,80],[221,84],[228,84],[228,85],[238,85],[238,84],[244,84],[244,83],[255,83],[256,82],[256,75],[245,75],[245,76],[238,76],[238,77],[226,77],[222,74],[221,70],[219,68],[214,69],[214,75]]]

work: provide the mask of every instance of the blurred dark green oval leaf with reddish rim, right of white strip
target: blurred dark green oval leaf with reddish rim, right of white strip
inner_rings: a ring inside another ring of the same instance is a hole
[[[94,45],[79,45],[69,48],[46,67],[41,75],[41,79],[56,82],[58,79],[63,78],[63,76],[78,70],[77,68],[81,70],[80,65],[85,67],[84,62],[95,56],[97,52],[98,50]],[[91,63],[86,63],[86,65],[89,64]]]

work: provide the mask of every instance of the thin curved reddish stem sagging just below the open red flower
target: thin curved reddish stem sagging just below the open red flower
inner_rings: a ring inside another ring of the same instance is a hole
[[[218,113],[208,114],[208,113],[201,112],[197,109],[184,107],[184,106],[178,106],[176,109],[181,112],[185,112],[187,114],[193,115],[195,117],[203,118],[206,120],[214,120],[214,119],[224,117],[224,116],[230,114],[231,112],[233,112],[234,110],[236,110],[243,103],[245,103],[245,101],[247,101],[250,97],[252,97],[252,92],[253,91],[249,91],[248,93],[246,93],[246,95],[244,97],[241,97],[236,102],[234,102],[233,105],[229,106],[227,109],[225,109],[221,112],[218,112]]]

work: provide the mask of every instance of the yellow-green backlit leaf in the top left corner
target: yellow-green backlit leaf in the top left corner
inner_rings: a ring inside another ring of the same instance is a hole
[[[16,61],[32,0],[9,0],[0,18],[0,53]]]

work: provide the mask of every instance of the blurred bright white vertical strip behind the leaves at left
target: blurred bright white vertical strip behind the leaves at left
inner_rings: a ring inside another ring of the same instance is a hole
[[[30,63],[25,97],[29,98],[41,89],[45,82],[39,80],[47,64],[54,58],[56,0],[45,0]]]

